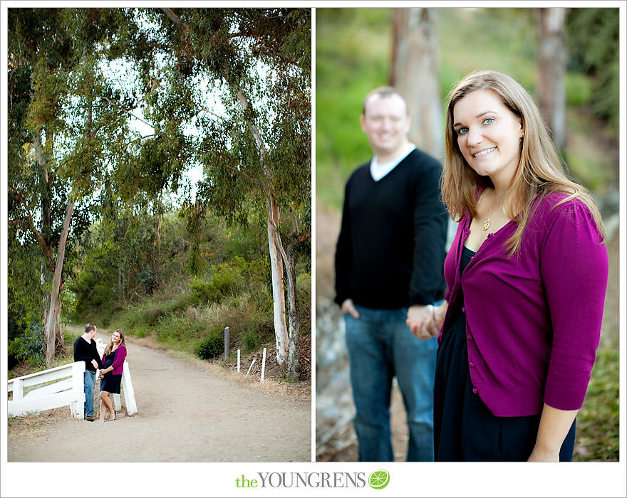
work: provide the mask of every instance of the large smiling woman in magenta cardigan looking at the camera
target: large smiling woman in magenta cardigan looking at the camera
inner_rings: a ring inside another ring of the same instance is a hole
[[[451,91],[442,198],[459,221],[446,300],[414,324],[439,332],[435,459],[571,460],[601,331],[605,234],[509,76],[472,73]]]

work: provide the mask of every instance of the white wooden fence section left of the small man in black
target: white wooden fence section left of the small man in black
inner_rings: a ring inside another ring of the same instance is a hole
[[[69,406],[73,418],[83,418],[85,393],[83,392],[85,362],[57,366],[54,369],[11,378],[8,391],[13,391],[13,399],[8,402],[10,415],[27,415],[31,412]],[[69,378],[67,378],[69,376]],[[33,389],[24,395],[24,388],[41,383],[58,381],[48,386]]]

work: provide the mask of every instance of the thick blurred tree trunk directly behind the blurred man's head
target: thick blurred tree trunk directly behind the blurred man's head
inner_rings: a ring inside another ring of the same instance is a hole
[[[435,9],[394,9],[392,22],[390,85],[407,102],[411,117],[408,137],[416,147],[441,159],[444,134]]]

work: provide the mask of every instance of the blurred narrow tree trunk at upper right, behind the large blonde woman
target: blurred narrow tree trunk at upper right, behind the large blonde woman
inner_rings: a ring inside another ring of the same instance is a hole
[[[538,9],[538,105],[555,144],[566,146],[566,9]]]

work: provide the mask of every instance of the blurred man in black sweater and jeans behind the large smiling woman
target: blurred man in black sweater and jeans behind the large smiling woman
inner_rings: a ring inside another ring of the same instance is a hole
[[[407,410],[407,460],[433,460],[437,344],[423,324],[444,296],[448,216],[440,163],[408,142],[409,124],[393,88],[368,94],[361,127],[373,158],[348,179],[336,247],[335,300],[346,324],[360,461],[393,460],[394,376]]]

